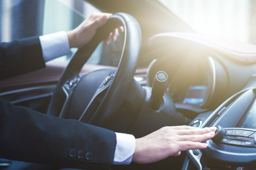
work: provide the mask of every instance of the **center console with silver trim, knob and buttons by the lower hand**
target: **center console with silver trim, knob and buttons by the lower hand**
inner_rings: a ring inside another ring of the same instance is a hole
[[[256,87],[231,96],[200,127],[216,126],[204,150],[187,151],[182,169],[256,169]]]

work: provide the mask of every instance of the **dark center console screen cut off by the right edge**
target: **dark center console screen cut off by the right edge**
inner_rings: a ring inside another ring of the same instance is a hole
[[[237,127],[256,129],[256,100],[238,122]]]

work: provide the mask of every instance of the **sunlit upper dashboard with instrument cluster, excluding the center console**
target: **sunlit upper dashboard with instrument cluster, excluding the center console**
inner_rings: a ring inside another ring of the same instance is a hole
[[[156,72],[165,71],[167,93],[177,108],[214,110],[248,82],[255,82],[256,46],[232,43],[235,47],[228,40],[196,33],[155,35],[149,41],[154,60],[148,67],[147,85],[152,85]]]

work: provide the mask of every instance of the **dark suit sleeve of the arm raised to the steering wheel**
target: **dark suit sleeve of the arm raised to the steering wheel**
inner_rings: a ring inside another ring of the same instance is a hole
[[[38,37],[0,43],[0,80],[44,67]]]

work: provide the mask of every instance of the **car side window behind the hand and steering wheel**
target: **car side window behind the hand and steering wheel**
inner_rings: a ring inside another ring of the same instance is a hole
[[[76,28],[93,12],[101,12],[84,0],[0,0],[0,40],[45,35]],[[99,44],[87,63],[117,66],[121,56],[124,35],[115,43]],[[77,49],[57,58],[67,62]]]

